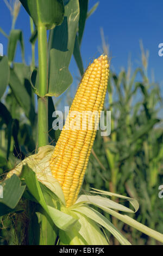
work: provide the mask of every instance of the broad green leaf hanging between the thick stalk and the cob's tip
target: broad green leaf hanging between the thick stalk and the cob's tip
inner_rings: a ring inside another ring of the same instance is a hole
[[[79,3],[70,0],[65,6],[64,21],[49,34],[50,58],[48,96],[58,97],[72,83],[68,70],[79,21]]]

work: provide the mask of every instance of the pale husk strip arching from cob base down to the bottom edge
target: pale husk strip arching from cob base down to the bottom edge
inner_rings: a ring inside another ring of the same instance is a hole
[[[121,243],[121,245],[130,245],[129,241],[124,237],[120,231],[118,231],[114,225],[106,219],[101,213],[92,209],[87,205],[79,206],[74,211],[80,212],[85,215],[87,218],[92,219],[94,222],[98,223],[105,229],[107,229],[116,239]],[[95,234],[96,235],[96,234]],[[93,233],[92,233],[93,236]]]

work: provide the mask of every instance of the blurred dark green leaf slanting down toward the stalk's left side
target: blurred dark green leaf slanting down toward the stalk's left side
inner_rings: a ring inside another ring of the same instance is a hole
[[[10,69],[9,86],[11,87],[17,102],[23,108],[26,116],[31,122],[34,122],[35,110],[34,105],[32,104],[32,99],[30,98],[26,88],[23,84],[21,84],[20,79],[12,68]]]

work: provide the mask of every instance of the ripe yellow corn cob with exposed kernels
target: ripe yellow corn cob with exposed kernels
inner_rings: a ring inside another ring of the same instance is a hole
[[[107,56],[101,55],[86,69],[50,160],[52,175],[61,185],[67,207],[75,203],[82,186],[96,136],[100,111],[103,109],[108,75]],[[71,114],[74,111],[80,114],[83,111],[91,111],[92,128],[89,129],[89,119],[85,120],[83,115],[78,117],[77,114],[76,121],[73,121],[74,116]],[[98,118],[94,118],[95,111],[98,113]],[[74,124],[76,129],[74,129]]]

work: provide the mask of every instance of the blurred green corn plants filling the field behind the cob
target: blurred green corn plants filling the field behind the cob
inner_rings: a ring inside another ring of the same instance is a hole
[[[27,65],[23,39],[23,34],[26,31],[21,31],[18,24],[15,25],[22,8],[21,4],[19,1],[6,0],[4,2],[9,8],[8,15],[11,14],[12,25],[10,33],[6,34],[3,31],[3,24],[0,24],[0,32],[3,37],[8,39],[8,52],[0,59],[1,180],[17,162],[23,160],[30,153],[34,153],[37,147],[37,99],[34,96],[38,71],[35,59],[37,31],[34,29],[32,19],[28,20],[27,22],[30,22],[31,26],[29,44],[32,49],[32,61],[30,65]],[[64,2],[66,5],[69,1]],[[72,74],[74,81],[80,80],[84,74],[85,59],[82,57],[80,47],[86,19],[91,19],[91,15],[96,15],[96,8],[98,8],[98,3],[95,3],[91,10],[87,9],[88,1],[85,3],[79,1],[79,4],[80,17],[76,24],[78,31],[75,32],[74,46],[69,38],[68,44],[71,50],[68,53],[63,50],[61,57],[61,61],[64,59],[68,68],[73,55],[78,67],[78,73]],[[59,50],[61,51],[59,47],[62,49],[65,47],[64,25],[60,26],[63,28],[61,32],[59,29],[52,29],[52,32],[49,33],[48,54],[49,49],[54,47],[55,58],[59,58]],[[70,35],[74,33],[73,29],[72,25],[72,30],[68,31]],[[61,41],[60,33],[62,33]],[[101,37],[102,53],[111,56],[103,29],[101,29]],[[15,62],[17,45],[21,49],[22,62],[20,63]],[[135,70],[131,68],[130,62],[128,68],[123,68],[121,72],[110,70],[104,110],[111,111],[111,134],[101,136],[101,131],[98,131],[96,135],[82,193],[88,192],[91,188],[97,188],[135,198],[139,201],[140,208],[130,216],[149,228],[163,233],[163,199],[158,196],[159,186],[163,184],[162,94],[160,85],[148,77],[148,62],[152,62],[152,59],[148,58],[148,51],[143,48],[142,41],[140,41],[140,53],[141,64]],[[114,58],[114,56],[112,57]],[[55,69],[55,66],[53,68]],[[53,80],[54,77],[52,76],[50,81],[51,79]],[[50,145],[55,145],[60,133],[59,130],[52,129],[54,120],[52,113],[54,110],[64,109],[67,104],[71,105],[74,91],[77,88],[77,82],[73,82],[73,85],[70,86],[72,81],[69,74],[64,79],[67,82],[65,87],[61,85],[61,89],[59,88],[61,91],[55,91],[56,95],[61,94],[60,97],[49,97],[48,99],[48,141]],[[2,87],[3,84],[5,86]],[[121,199],[115,200],[117,203],[121,203]],[[128,202],[123,201],[123,204],[128,206]],[[161,245],[160,242],[128,227],[108,213],[103,214],[133,245]],[[0,216],[0,245],[21,243],[23,239],[21,237],[21,222],[26,221],[28,222],[25,212],[24,214],[10,213],[3,218]],[[118,241],[114,237],[110,234],[108,236],[112,245],[118,245]]]

